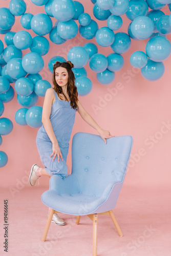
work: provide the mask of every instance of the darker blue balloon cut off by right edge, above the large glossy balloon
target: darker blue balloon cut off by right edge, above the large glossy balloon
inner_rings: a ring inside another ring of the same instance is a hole
[[[171,33],[171,26],[169,24],[169,15],[161,16],[156,23],[156,28],[159,33],[168,35]]]

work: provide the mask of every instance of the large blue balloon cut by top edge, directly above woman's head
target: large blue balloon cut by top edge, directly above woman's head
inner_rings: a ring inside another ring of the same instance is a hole
[[[56,19],[67,22],[75,14],[75,4],[72,0],[54,0],[52,3],[52,14]]]

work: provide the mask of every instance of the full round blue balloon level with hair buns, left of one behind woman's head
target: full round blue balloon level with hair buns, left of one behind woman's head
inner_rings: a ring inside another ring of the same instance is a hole
[[[22,66],[27,73],[37,74],[44,68],[44,59],[36,52],[29,52],[23,57]]]

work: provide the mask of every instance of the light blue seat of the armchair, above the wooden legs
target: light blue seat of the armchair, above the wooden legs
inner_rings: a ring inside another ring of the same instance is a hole
[[[88,215],[96,213],[96,209],[106,200],[104,197],[73,194],[58,195],[56,190],[45,191],[41,200],[50,208],[70,215]]]

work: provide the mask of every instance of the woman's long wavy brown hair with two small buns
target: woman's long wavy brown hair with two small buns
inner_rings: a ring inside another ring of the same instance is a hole
[[[55,80],[55,70],[59,67],[65,68],[68,72],[67,91],[68,91],[68,95],[71,99],[70,105],[75,110],[77,108],[78,92],[77,92],[77,87],[75,86],[75,76],[74,76],[74,73],[72,71],[72,68],[74,68],[74,65],[73,65],[73,63],[71,63],[71,61],[67,61],[67,62],[56,61],[56,63],[53,66],[52,81],[53,81],[53,84],[54,84],[54,90],[57,93],[59,99],[62,99],[60,94],[63,94],[63,96],[65,97],[65,100],[68,101],[66,95],[62,92],[62,88],[59,86],[59,84],[57,84],[57,82]]]

